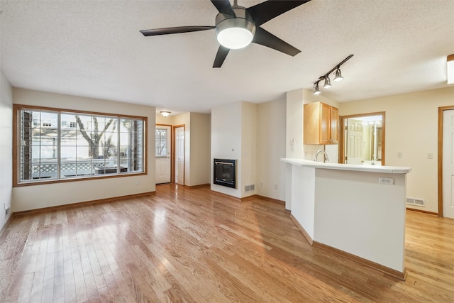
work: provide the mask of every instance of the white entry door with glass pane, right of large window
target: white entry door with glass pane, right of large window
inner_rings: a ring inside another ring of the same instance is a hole
[[[170,126],[156,126],[156,184],[170,183]]]

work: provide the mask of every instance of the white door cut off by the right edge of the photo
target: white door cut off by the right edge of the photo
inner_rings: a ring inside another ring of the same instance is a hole
[[[454,110],[443,111],[443,216],[454,219]]]

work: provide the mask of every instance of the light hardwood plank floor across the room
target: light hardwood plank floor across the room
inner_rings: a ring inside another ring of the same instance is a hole
[[[407,211],[402,282],[310,246],[282,204],[156,192],[15,216],[0,302],[454,302],[454,220]]]

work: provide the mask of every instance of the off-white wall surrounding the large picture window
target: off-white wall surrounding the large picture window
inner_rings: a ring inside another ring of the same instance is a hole
[[[155,107],[13,88],[13,103],[99,113],[146,116],[148,175],[14,187],[12,210],[86,202],[155,191]],[[2,136],[3,138],[3,136]]]

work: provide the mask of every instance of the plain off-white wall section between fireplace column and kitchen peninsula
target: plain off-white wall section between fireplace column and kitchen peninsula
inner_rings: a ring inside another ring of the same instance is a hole
[[[257,104],[257,183],[260,196],[285,200],[285,100]],[[277,187],[277,188],[276,188]]]

